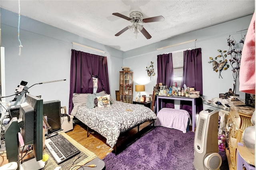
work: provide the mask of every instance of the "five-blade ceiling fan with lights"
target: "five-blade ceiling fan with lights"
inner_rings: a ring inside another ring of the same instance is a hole
[[[116,33],[115,36],[120,36],[122,33],[124,33],[126,30],[129,29],[130,31],[134,30],[134,34],[136,34],[136,38],[137,38],[137,34],[139,33],[138,31],[140,31],[146,37],[146,39],[150,39],[152,36],[150,36],[150,34],[146,31],[143,25],[140,25],[139,23],[164,21],[163,16],[154,16],[154,17],[142,19],[142,13],[138,11],[131,12],[130,18],[120,13],[113,13],[112,15],[118,16],[120,18],[124,18],[125,20],[132,22],[132,26],[125,27],[120,32]]]

